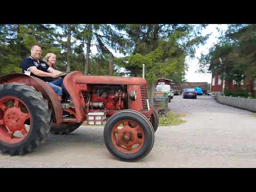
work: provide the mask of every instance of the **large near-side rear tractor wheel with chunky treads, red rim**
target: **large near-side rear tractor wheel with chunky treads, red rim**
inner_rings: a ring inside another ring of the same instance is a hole
[[[48,101],[33,86],[0,85],[0,151],[26,154],[38,147],[51,127]]]

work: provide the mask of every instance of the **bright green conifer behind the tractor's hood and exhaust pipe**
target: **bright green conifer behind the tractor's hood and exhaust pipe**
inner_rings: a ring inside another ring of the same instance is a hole
[[[141,76],[145,64],[146,79],[157,78],[185,81],[185,58],[193,57],[195,46],[204,43],[208,36],[201,36],[193,25],[133,24],[116,25],[130,40],[130,55],[115,60],[125,67],[131,76]],[[205,26],[202,26],[205,27]]]

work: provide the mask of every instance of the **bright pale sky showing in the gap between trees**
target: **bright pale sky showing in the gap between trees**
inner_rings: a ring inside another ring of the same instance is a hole
[[[220,36],[220,33],[218,32],[218,28],[220,28],[221,30],[227,30],[227,25],[223,24],[223,25],[217,25],[217,24],[210,24],[209,26],[207,26],[205,29],[203,29],[202,31],[202,35],[206,35],[206,34],[210,34],[209,39],[207,39],[206,44],[199,46],[196,50],[196,58],[200,57],[201,52],[203,53],[208,53],[209,49],[212,45],[214,45],[215,43],[217,43],[218,41],[218,37]],[[187,63],[188,63],[188,71],[186,71],[186,76],[185,78],[187,79],[187,82],[208,82],[211,83],[211,74],[199,74],[196,73],[195,71],[199,69],[199,64],[198,64],[198,59],[193,59],[193,60],[189,60],[187,59]]]

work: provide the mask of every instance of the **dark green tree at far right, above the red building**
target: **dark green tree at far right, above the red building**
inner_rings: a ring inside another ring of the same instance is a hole
[[[222,78],[252,80],[256,74],[256,25],[229,25],[220,42],[202,54],[199,72],[221,73]],[[244,76],[244,77],[243,77]]]

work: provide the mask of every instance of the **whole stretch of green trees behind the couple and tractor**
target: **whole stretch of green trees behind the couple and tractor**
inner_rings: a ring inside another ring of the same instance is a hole
[[[83,72],[88,58],[90,74],[108,75],[108,63],[113,59],[114,75],[141,76],[145,64],[149,82],[159,77],[185,81],[185,58],[192,56],[195,46],[207,38],[198,31],[187,24],[0,25],[0,75],[21,72],[20,63],[30,55],[31,45],[40,44],[42,59],[48,52],[55,53],[57,68],[62,71],[69,66],[70,70]],[[95,45],[98,53],[87,55],[87,45]],[[125,57],[115,58],[111,51]]]

